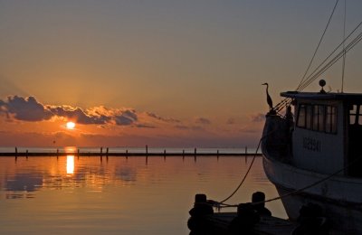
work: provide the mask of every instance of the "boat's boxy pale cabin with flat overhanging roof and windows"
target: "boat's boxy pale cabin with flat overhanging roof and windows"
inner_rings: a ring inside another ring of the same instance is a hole
[[[362,94],[282,92],[293,100],[291,164],[362,177]],[[361,158],[358,161],[359,157]]]

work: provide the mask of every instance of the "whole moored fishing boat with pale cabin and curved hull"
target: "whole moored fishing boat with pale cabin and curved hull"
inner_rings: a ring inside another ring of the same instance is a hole
[[[293,100],[296,121],[270,112],[262,153],[288,216],[296,220],[300,207],[312,202],[334,229],[362,233],[362,94],[322,89],[281,96]]]

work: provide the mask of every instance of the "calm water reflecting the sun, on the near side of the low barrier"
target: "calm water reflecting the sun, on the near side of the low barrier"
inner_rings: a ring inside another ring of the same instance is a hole
[[[249,157],[0,157],[1,234],[188,234],[195,193],[223,200]],[[257,157],[229,203],[277,195]],[[267,204],[286,217],[281,202]],[[233,209],[231,209],[233,210]]]

